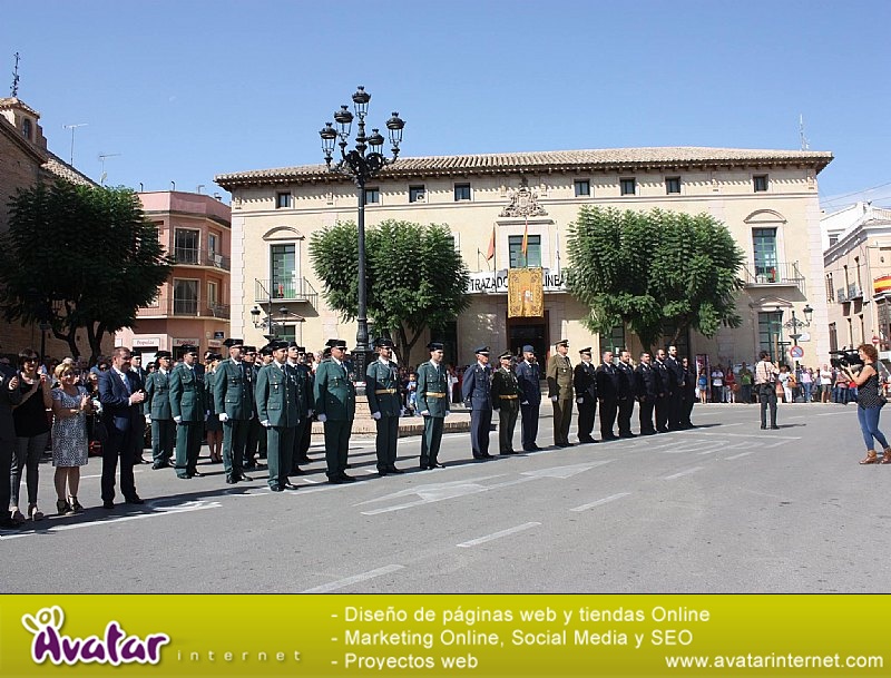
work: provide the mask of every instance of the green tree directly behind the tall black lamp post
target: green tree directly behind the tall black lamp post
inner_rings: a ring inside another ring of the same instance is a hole
[[[393,338],[403,365],[428,327],[453,321],[470,305],[468,268],[449,228],[388,219],[365,230],[368,315]],[[346,321],[358,314],[356,226],[339,223],[313,234],[310,256],[327,305]]]

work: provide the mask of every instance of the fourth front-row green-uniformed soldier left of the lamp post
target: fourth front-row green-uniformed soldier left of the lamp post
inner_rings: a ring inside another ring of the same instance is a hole
[[[195,370],[198,347],[184,346],[182,364],[170,373],[170,413],[176,422],[176,476],[198,473],[198,453],[204,435],[204,374]]]

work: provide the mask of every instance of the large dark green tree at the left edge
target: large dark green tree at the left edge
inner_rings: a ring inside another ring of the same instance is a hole
[[[86,332],[95,362],[105,334],[136,321],[170,274],[172,262],[127,188],[58,180],[20,190],[0,238],[0,304],[9,322],[48,321],[53,336],[80,352]],[[46,314],[49,304],[57,312]]]

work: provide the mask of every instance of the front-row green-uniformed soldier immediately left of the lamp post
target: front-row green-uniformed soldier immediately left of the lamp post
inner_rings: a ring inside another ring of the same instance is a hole
[[[327,481],[332,484],[354,482],[346,474],[346,456],[350,451],[350,434],[355,419],[355,386],[344,362],[346,342],[329,340],[331,357],[323,360],[315,371],[316,419],[325,428],[325,462]]]

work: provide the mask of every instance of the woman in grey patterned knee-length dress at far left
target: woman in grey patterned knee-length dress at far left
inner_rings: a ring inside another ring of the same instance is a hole
[[[87,415],[92,403],[87,390],[77,384],[75,366],[61,363],[56,367],[61,385],[52,390],[52,465],[56,466],[56,509],[59,515],[80,513],[77,500],[80,466],[88,462]],[[66,494],[66,490],[68,493]]]

